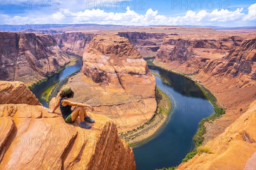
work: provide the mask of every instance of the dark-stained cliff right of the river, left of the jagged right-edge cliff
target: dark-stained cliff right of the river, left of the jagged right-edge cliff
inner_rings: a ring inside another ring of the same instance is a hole
[[[231,49],[241,44],[243,37],[188,37],[166,36],[157,51],[156,61],[168,63],[172,68],[187,74],[198,73],[210,59],[221,60]]]

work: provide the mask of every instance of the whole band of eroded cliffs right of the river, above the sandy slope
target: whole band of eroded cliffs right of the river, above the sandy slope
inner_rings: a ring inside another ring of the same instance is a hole
[[[185,74],[237,77],[242,87],[256,79],[255,56],[255,39],[243,36],[221,38],[214,35],[208,40],[166,36],[155,62],[166,63],[176,72]]]

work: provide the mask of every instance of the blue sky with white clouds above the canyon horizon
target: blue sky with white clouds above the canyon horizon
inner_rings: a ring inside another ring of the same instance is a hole
[[[256,0],[0,0],[0,24],[256,26]]]

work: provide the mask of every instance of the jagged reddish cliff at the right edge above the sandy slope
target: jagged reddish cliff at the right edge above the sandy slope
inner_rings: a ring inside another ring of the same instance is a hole
[[[243,86],[256,80],[256,39],[244,40],[239,47],[233,48],[223,61],[209,60],[204,72],[212,76],[230,75],[239,78]]]

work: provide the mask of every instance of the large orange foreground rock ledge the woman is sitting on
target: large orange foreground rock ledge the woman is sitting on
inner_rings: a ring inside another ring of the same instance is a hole
[[[136,169],[133,151],[119,139],[111,119],[88,112],[96,123],[87,130],[78,126],[79,120],[65,123],[59,108],[47,110],[40,105],[0,106],[0,169]]]

